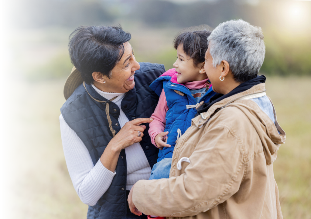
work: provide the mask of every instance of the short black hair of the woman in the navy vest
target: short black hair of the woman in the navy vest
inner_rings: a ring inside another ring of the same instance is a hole
[[[90,84],[93,72],[110,78],[111,70],[123,56],[123,43],[130,39],[131,34],[121,26],[81,26],[69,35],[69,56],[85,83]]]

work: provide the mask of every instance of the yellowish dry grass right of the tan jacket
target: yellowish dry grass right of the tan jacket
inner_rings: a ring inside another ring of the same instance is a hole
[[[284,218],[311,218],[311,78],[268,78],[286,143],[274,162]]]

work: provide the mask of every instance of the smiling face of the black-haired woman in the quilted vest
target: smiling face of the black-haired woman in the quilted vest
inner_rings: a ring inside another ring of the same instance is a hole
[[[132,46],[129,42],[123,43],[124,53],[118,64],[112,69],[111,76],[102,76],[105,82],[94,83],[94,85],[104,92],[125,93],[135,86],[134,74],[140,68],[135,59]]]

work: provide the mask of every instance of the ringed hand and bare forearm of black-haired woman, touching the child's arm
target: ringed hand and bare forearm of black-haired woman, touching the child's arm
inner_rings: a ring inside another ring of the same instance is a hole
[[[153,118],[136,118],[125,123],[121,130],[108,143],[104,153],[100,157],[100,162],[111,172],[115,171],[121,150],[128,146],[142,141],[143,132],[146,126],[142,123],[151,123]],[[140,132],[140,136],[139,132]]]

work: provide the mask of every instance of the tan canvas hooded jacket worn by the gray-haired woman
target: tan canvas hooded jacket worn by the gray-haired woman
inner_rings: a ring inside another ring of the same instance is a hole
[[[285,132],[274,107],[275,124],[249,100],[258,95],[264,83],[193,118],[175,146],[169,179],[135,184],[136,208],[167,218],[283,218],[272,163]]]

